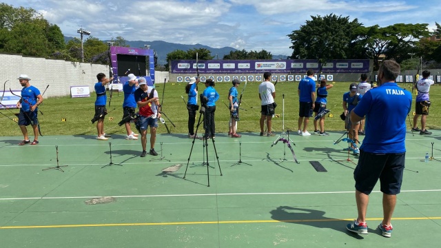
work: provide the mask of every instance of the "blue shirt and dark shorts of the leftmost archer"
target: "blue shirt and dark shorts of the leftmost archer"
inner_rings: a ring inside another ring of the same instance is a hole
[[[19,113],[19,125],[38,125],[38,107],[34,111],[30,111],[31,105],[37,104],[37,96],[40,94],[39,89],[30,85],[21,89],[21,107]]]

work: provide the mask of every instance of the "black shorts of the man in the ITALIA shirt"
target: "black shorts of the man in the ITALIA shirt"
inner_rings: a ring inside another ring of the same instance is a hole
[[[369,195],[378,178],[380,178],[381,192],[391,195],[399,194],[405,156],[405,152],[400,154],[373,154],[360,150],[358,165],[353,172],[356,189]]]

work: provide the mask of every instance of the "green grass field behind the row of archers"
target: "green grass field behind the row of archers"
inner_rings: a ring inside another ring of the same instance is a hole
[[[238,123],[238,132],[260,132],[258,120],[260,118],[260,100],[258,99],[258,85],[260,83],[247,83],[245,92],[243,93],[243,103],[241,107],[245,110],[240,110],[240,121]],[[334,87],[329,90],[328,105],[327,108],[331,110],[329,114],[333,114],[333,117],[327,116],[325,119],[325,130],[338,131],[344,130],[344,122],[340,120],[339,115],[342,113],[342,94],[348,92],[350,83],[335,83]],[[238,87],[238,92],[242,92],[245,83],[241,83]],[[187,134],[187,108],[181,96],[187,101],[187,95],[185,94],[185,83],[166,83],[165,92],[163,96],[163,84],[158,84],[156,90],[158,90],[159,99],[163,102],[163,111],[170,120],[176,125],[173,127],[170,122],[165,118],[172,133]],[[273,130],[280,132],[283,130],[283,95],[285,95],[285,130],[297,130],[298,121],[298,83],[293,82],[278,82],[276,85],[276,114],[280,115],[278,118],[273,118]],[[402,87],[406,88],[406,85],[402,84]],[[216,103],[216,132],[228,132],[228,120],[229,110],[225,107],[224,103],[228,103],[227,94],[229,88],[232,87],[231,83],[217,83],[216,90],[220,94],[220,99]],[[202,93],[205,89],[205,85],[199,84],[199,93]],[[407,86],[410,90],[410,84]],[[50,90],[50,89],[49,89]],[[441,103],[440,99],[441,87],[439,85],[433,85],[430,90],[431,96],[431,108],[430,114],[427,117],[427,127],[429,129],[438,129],[441,127],[440,112],[438,106]],[[415,90],[413,91],[413,99],[415,99]],[[107,96],[108,98],[108,96]],[[105,118],[104,129],[109,134],[124,134],[124,126],[119,127],[117,123],[123,116],[123,94],[114,92],[112,96],[111,107],[107,105],[107,114]],[[94,115],[94,101],[95,94],[92,93],[90,98],[71,99],[70,96],[64,97],[52,97],[45,99],[43,105],[40,106],[43,115],[39,114],[39,121],[41,125],[41,132],[43,135],[96,135],[96,125],[92,125],[90,119]],[[224,103],[223,103],[224,102]],[[412,109],[414,109],[415,103],[413,103]],[[400,103],[396,103],[397,107],[400,107]],[[114,109],[114,110],[113,110]],[[19,112],[18,110],[0,110],[3,114],[6,114],[14,118],[13,113]],[[413,110],[412,110],[413,111]],[[411,121],[412,121],[412,115]],[[110,121],[109,118],[113,118]],[[199,114],[197,116],[199,118]],[[65,121],[62,121],[65,119]],[[312,118],[309,123],[308,130],[314,131],[314,125]],[[5,116],[0,116],[1,130],[0,136],[21,136],[21,131],[14,123]],[[197,123],[197,122],[196,122]],[[410,128],[409,121],[407,125]],[[418,123],[420,127],[420,123]],[[134,127],[133,127],[134,130]],[[200,130],[200,131],[199,131]],[[200,126],[198,133],[202,131],[202,125]],[[31,129],[29,128],[29,131]],[[159,123],[158,133],[166,133],[165,126]]]

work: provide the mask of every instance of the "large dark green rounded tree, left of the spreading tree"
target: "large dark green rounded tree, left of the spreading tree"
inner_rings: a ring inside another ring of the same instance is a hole
[[[294,30],[287,36],[293,49],[291,59],[317,59],[326,63],[331,59],[348,59],[351,41],[356,39],[355,30],[362,24],[358,19],[349,21],[349,17],[337,17],[329,14],[325,17],[311,16],[300,30]]]

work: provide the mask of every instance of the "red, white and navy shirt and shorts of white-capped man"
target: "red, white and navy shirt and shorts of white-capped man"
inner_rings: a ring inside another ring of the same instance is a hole
[[[141,88],[135,90],[134,99],[136,102],[145,102],[151,98],[158,97],[158,92],[154,90],[153,94],[151,94],[153,87],[148,86],[147,92],[143,92]],[[145,105],[144,107],[139,108],[139,129],[147,130],[147,127],[158,127],[158,106],[154,102]]]

